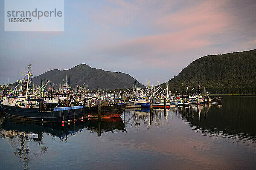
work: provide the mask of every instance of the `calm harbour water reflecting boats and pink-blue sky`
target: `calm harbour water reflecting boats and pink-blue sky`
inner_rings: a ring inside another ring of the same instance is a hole
[[[256,97],[35,125],[0,118],[0,169],[256,169]]]

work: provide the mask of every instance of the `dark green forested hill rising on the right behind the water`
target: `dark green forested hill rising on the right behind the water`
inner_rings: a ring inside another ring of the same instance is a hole
[[[256,94],[256,49],[201,57],[168,81],[172,91],[197,89],[198,83],[211,94]]]

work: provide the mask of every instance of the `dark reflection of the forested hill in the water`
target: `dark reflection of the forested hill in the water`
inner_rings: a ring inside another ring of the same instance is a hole
[[[179,107],[178,113],[195,130],[205,134],[243,140],[256,139],[256,98],[252,99],[251,105],[248,105],[247,101],[240,101],[246,98],[224,98],[222,105]],[[243,102],[247,105],[241,104]]]

